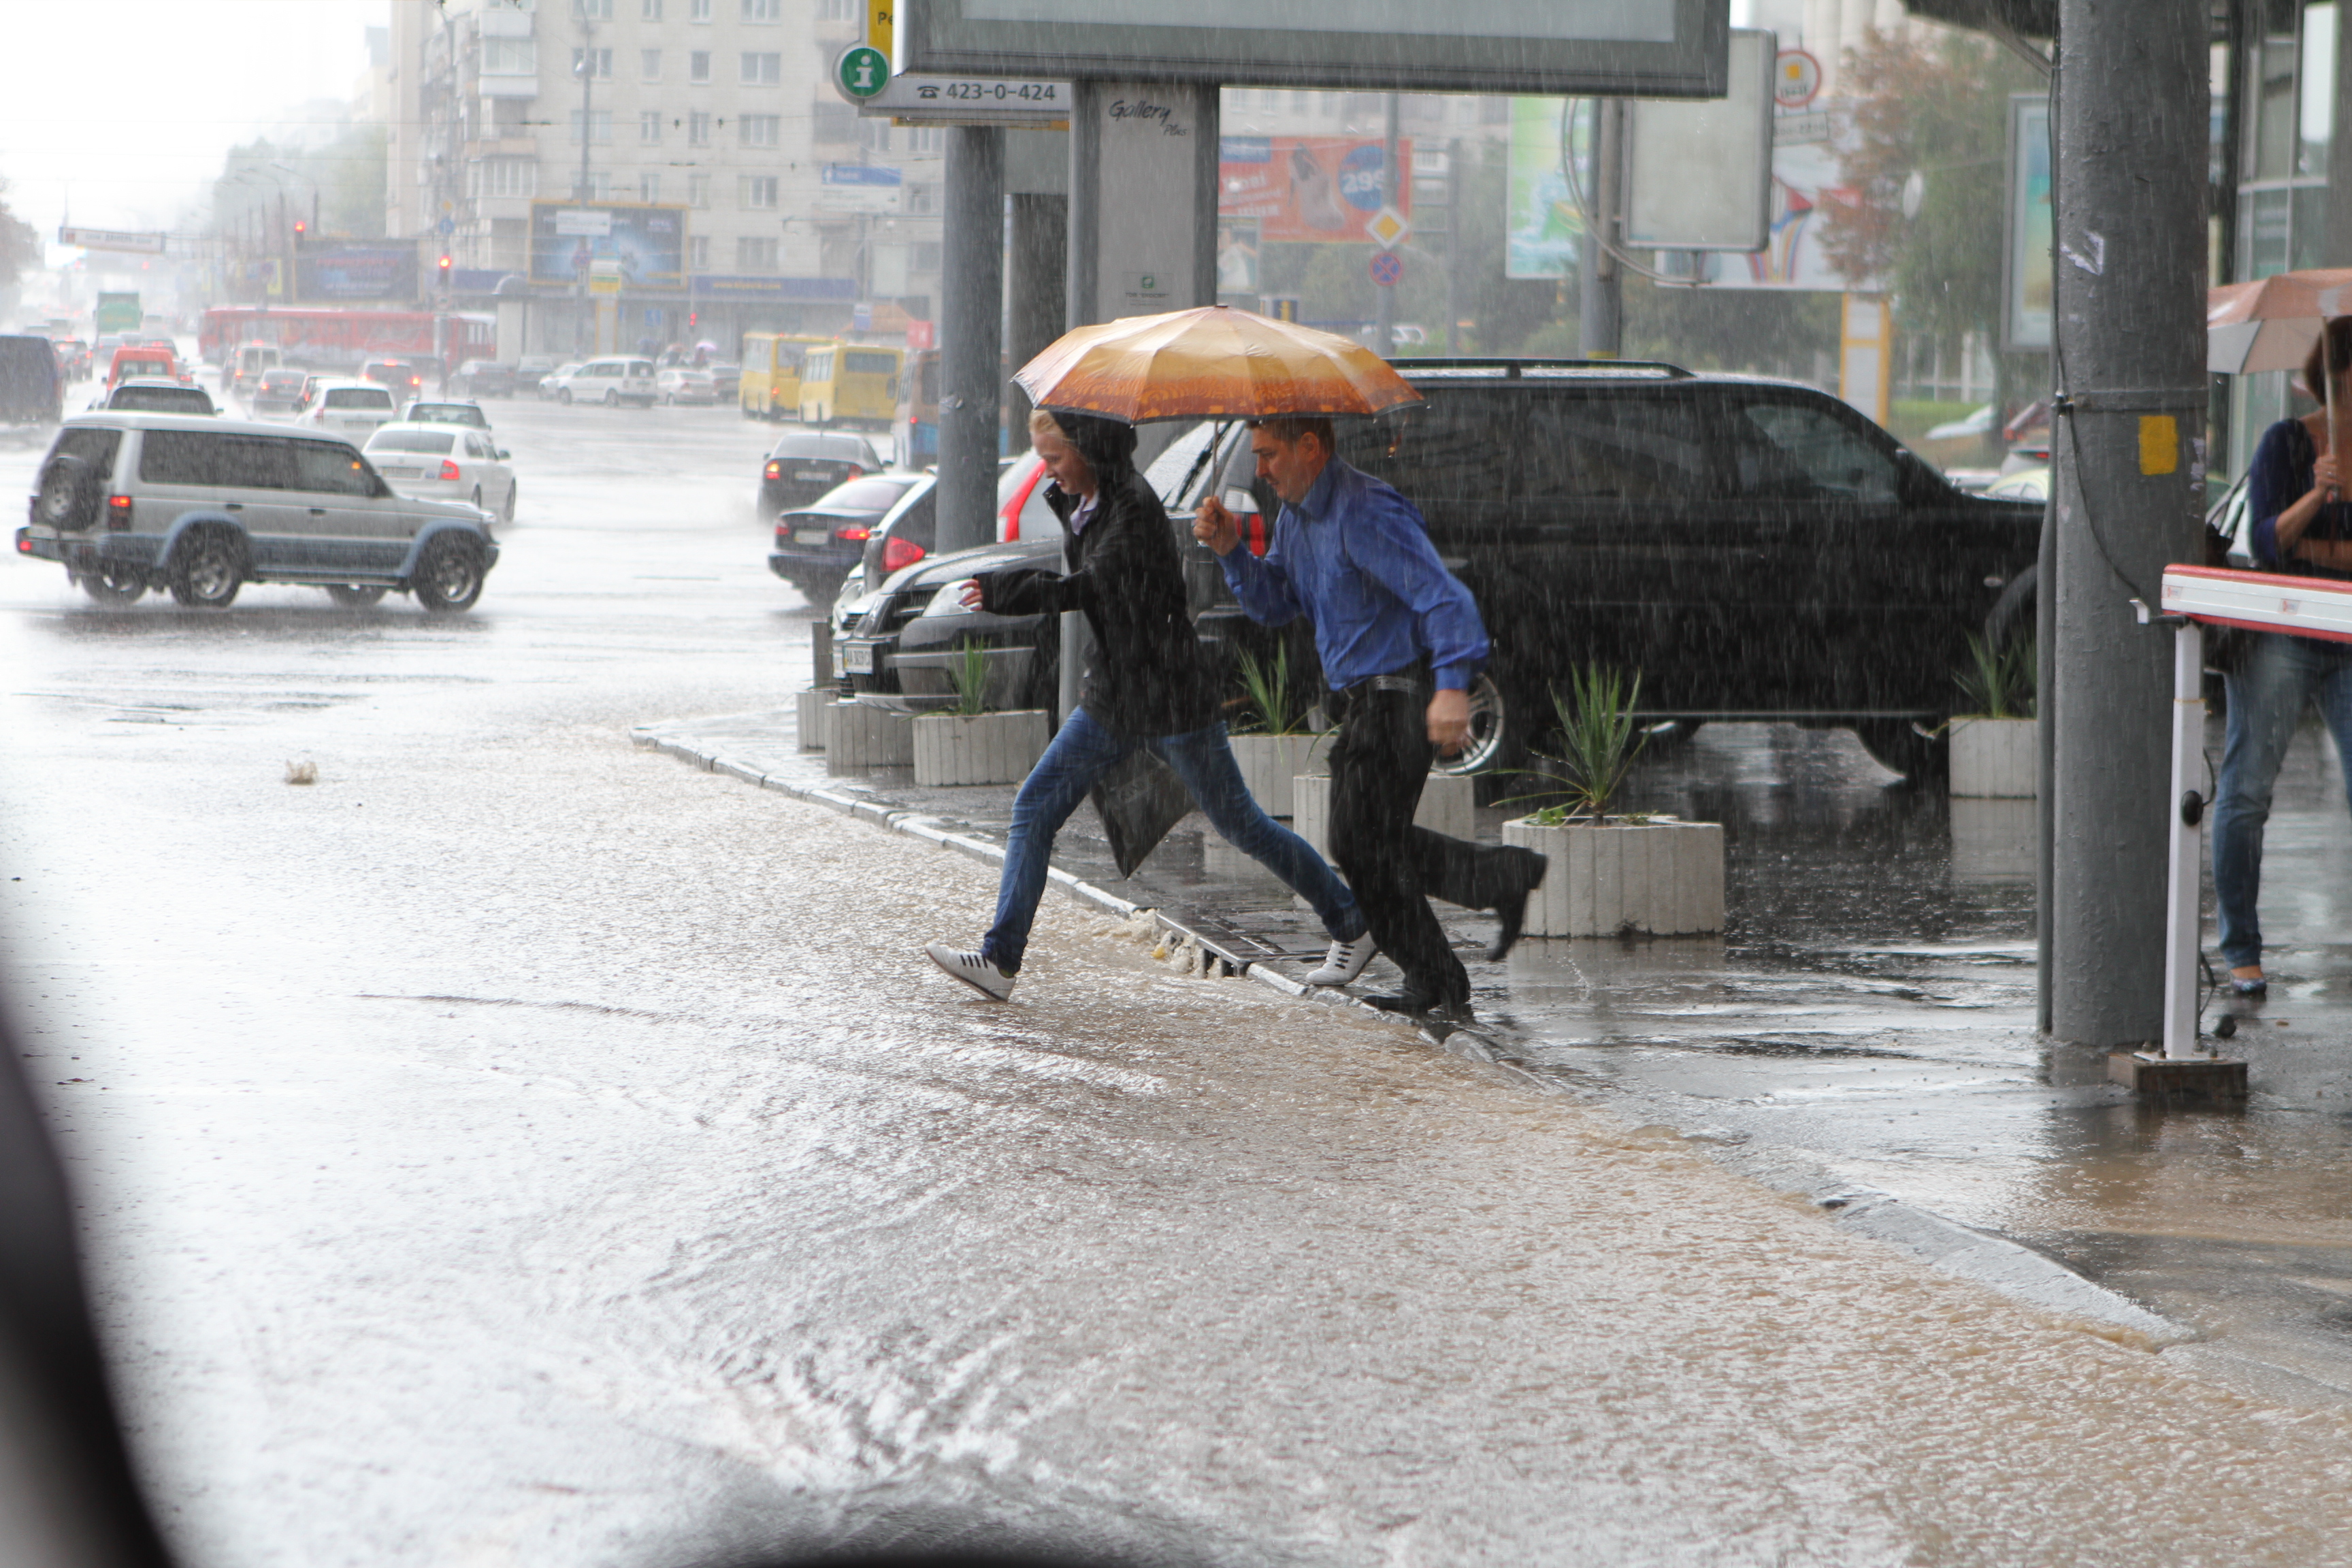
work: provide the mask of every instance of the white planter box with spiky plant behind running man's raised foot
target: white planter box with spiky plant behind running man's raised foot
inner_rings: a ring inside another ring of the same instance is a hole
[[[1503,842],[1550,856],[1526,900],[1529,936],[1698,936],[1724,929],[1719,823],[1503,823]]]

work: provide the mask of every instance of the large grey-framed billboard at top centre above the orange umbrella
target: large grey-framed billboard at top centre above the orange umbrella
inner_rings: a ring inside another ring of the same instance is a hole
[[[1724,0],[903,0],[901,71],[1712,99]]]

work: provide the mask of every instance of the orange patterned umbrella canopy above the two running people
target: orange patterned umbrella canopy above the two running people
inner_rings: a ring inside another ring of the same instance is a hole
[[[1077,327],[1014,381],[1042,409],[1127,423],[1378,414],[1421,402],[1362,343],[1228,306]]]

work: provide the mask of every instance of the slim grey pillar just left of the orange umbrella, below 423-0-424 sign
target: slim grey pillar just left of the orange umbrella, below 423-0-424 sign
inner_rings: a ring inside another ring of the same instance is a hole
[[[938,308],[938,552],[995,541],[1004,331],[1004,132],[948,127]]]

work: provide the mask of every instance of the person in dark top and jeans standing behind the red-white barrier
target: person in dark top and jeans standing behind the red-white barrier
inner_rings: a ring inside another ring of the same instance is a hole
[[[2263,433],[2246,470],[2246,517],[2260,571],[2352,578],[2352,505],[2343,501],[2343,458],[2326,418],[2331,364],[2333,402],[2352,397],[2352,317],[2331,320],[2324,334],[2303,362],[2303,386],[2321,407]],[[2249,632],[2249,639],[2246,658],[2223,675],[2230,717],[2213,797],[2213,903],[2230,990],[2260,997],[2270,990],[2256,917],[2270,790],[2303,708],[2314,698],[2352,780],[2352,646],[2291,632]]]

